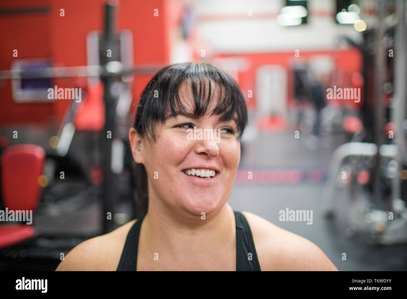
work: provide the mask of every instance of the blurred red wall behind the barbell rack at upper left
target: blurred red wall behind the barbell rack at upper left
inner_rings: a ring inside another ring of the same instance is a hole
[[[0,18],[0,70],[8,70],[13,59],[52,57],[55,66],[86,65],[86,35],[103,28],[103,4],[106,0],[15,0],[0,2],[0,9],[48,6],[48,13],[7,14]],[[172,5],[173,4],[173,5]],[[170,32],[177,26],[180,7],[176,0],[120,0],[116,11],[116,29],[133,32],[134,63],[169,63]],[[60,16],[60,9],[65,16]],[[159,16],[154,17],[153,10]],[[13,57],[13,49],[18,57]],[[153,74],[136,76],[134,97],[138,98]],[[77,79],[55,79],[58,87],[73,87]],[[14,103],[11,82],[0,86],[2,99],[0,124],[46,122],[53,116],[60,121],[68,100],[54,103]]]

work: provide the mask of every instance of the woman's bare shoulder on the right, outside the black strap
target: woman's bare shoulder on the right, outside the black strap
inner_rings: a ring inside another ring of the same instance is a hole
[[[252,231],[254,246],[265,271],[337,271],[313,242],[249,212],[242,212]]]

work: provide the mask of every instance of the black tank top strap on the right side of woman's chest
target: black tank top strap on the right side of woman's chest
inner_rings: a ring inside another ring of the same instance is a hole
[[[241,212],[233,212],[236,219],[236,271],[261,271],[249,223]]]

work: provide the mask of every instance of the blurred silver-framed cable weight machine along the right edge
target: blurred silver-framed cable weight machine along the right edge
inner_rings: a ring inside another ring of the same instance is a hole
[[[324,210],[327,216],[333,215],[335,193],[337,190],[337,178],[340,175],[340,170],[344,170],[342,166],[347,159],[358,159],[360,157],[368,157],[373,165],[372,180],[370,188],[363,188],[363,193],[359,195],[358,200],[353,204],[350,212],[349,225],[353,231],[361,231],[368,233],[368,242],[372,244],[396,244],[407,242],[407,208],[405,203],[405,183],[404,175],[407,166],[406,150],[403,144],[406,140],[405,124],[407,119],[406,99],[407,92],[405,80],[407,78],[407,60],[406,60],[406,2],[404,0],[397,1],[397,17],[398,24],[395,29],[396,37],[395,49],[397,53],[394,55],[394,77],[395,77],[395,93],[390,107],[389,117],[393,123],[394,143],[385,144],[384,136],[390,132],[385,132],[385,127],[390,128],[385,122],[385,111],[383,105],[383,87],[385,74],[385,57],[387,53],[384,51],[383,37],[385,33],[392,32],[393,28],[384,27],[384,11],[385,2],[379,1],[379,22],[378,28],[374,31],[376,40],[376,54],[374,72],[375,78],[375,101],[374,109],[369,107],[367,100],[363,100],[363,124],[365,132],[365,140],[369,142],[349,142],[343,144],[335,151],[333,160],[330,165],[329,181],[324,196]],[[365,33],[367,35],[372,32]],[[364,57],[364,77],[366,82],[372,82],[372,78],[368,76],[367,61],[368,51],[364,46],[358,46]],[[370,96],[370,92],[366,89]],[[364,97],[367,99],[367,96]],[[371,117],[373,113],[374,118]],[[387,114],[387,113],[386,113]],[[373,142],[372,142],[373,141]],[[370,163],[368,163],[370,164]],[[362,170],[365,166],[362,166]],[[365,170],[362,170],[365,171]],[[345,171],[346,172],[346,171]],[[363,172],[365,173],[365,172]],[[359,174],[358,174],[359,175]],[[361,176],[363,177],[363,175]],[[368,180],[368,179],[367,179]],[[365,179],[360,179],[359,183],[364,185]],[[402,188],[403,187],[403,188]],[[367,189],[367,190],[365,190]],[[371,189],[371,190],[370,190]],[[392,214],[391,214],[392,213]],[[394,214],[394,218],[392,216]],[[398,216],[398,217],[396,217]]]

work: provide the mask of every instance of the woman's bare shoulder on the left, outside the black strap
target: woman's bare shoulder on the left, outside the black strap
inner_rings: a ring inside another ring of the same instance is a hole
[[[116,271],[127,234],[136,221],[78,244],[55,271]]]

